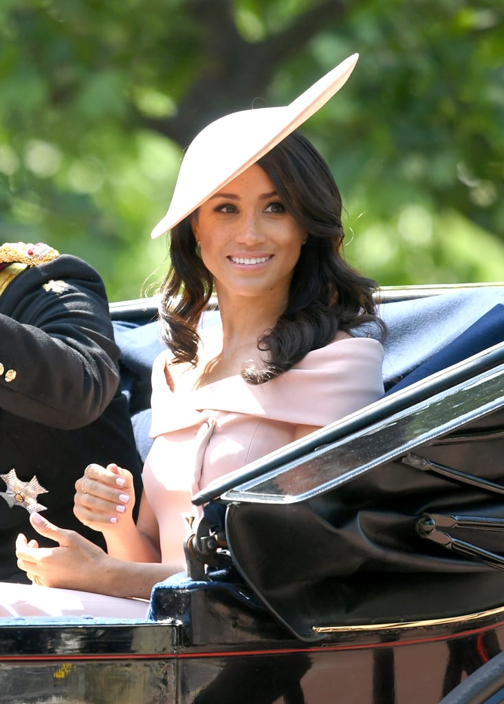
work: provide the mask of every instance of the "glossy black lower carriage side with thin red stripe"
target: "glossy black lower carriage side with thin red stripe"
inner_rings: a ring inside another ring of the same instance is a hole
[[[306,643],[229,600],[179,596],[184,614],[163,622],[0,624],[2,702],[437,704],[504,644],[504,608]]]

